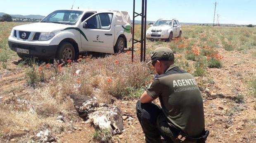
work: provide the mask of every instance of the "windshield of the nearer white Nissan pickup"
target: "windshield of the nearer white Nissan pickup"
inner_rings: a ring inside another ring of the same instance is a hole
[[[40,22],[75,25],[82,14],[82,11],[77,10],[57,10],[43,18]]]

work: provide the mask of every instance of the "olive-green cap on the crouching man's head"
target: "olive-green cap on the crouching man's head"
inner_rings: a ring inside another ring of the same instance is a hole
[[[173,60],[173,57],[174,55],[171,48],[159,47],[152,52],[151,61],[147,62],[147,64],[151,63],[154,60]]]

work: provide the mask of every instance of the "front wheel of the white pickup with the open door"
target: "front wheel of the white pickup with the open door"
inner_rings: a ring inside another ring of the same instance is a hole
[[[58,60],[75,60],[76,52],[75,48],[69,42],[63,42],[59,45],[56,58]]]

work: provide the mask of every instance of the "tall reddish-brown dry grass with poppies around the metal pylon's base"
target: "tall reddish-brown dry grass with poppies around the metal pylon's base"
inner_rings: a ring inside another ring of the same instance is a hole
[[[130,56],[128,52],[95,60],[86,58],[84,64],[72,63],[70,68],[61,72],[57,82],[66,87],[66,94],[91,95],[93,88],[99,88],[105,94],[121,98],[126,87],[145,86],[150,75],[148,66],[137,62],[138,55],[133,63]],[[75,74],[77,70],[81,70],[79,74]]]

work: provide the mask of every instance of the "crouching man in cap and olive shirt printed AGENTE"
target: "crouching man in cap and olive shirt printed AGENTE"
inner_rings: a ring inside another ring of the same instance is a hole
[[[167,143],[204,143],[209,131],[204,129],[203,101],[193,76],[174,65],[170,48],[156,48],[150,62],[158,75],[136,105],[146,143],[161,143],[161,136]],[[151,103],[157,97],[161,107]]]

